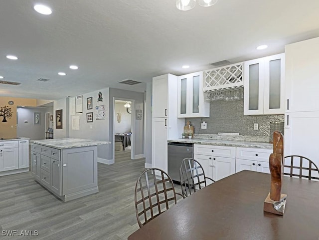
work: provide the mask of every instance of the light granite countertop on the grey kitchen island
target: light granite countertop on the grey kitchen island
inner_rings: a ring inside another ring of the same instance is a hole
[[[30,143],[40,144],[46,147],[51,147],[56,149],[66,149],[66,148],[80,148],[80,147],[103,145],[103,144],[109,144],[111,142],[82,139],[82,138],[61,138],[61,139],[31,140]]]

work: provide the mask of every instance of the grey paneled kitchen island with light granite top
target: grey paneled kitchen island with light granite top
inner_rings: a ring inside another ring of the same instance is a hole
[[[99,192],[97,145],[110,142],[79,139],[32,140],[35,181],[64,202]]]

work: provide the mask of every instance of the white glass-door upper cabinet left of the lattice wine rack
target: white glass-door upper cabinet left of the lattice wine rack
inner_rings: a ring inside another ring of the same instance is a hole
[[[209,102],[204,99],[203,72],[178,77],[177,117],[209,117]]]

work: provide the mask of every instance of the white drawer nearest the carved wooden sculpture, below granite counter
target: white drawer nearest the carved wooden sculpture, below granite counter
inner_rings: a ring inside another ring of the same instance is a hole
[[[237,148],[236,158],[268,162],[272,152],[272,149]]]

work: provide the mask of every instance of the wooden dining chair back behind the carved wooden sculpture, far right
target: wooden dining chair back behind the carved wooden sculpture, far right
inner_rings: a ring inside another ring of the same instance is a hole
[[[285,157],[284,175],[309,180],[319,180],[319,169],[309,158],[299,155]]]

